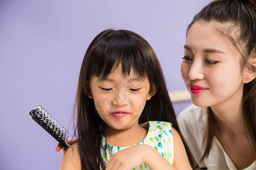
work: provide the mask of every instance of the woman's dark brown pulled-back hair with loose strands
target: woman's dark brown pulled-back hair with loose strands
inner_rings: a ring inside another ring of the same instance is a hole
[[[188,25],[187,33],[197,21],[217,22],[216,30],[221,33],[241,54],[241,66],[255,73],[255,66],[249,59],[256,57],[256,6],[255,1],[223,0],[213,1],[196,14]],[[244,84],[242,98],[243,122],[247,134],[253,142],[251,150],[256,150],[256,78]],[[207,109],[207,129],[205,130],[205,151],[201,160],[209,155],[214,137],[213,113]],[[250,142],[249,142],[250,143]],[[255,155],[254,155],[255,158]]]

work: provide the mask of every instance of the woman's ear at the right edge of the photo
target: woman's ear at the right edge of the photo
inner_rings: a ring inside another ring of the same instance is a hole
[[[256,58],[250,59],[249,61],[250,68],[244,68],[242,72],[242,83],[249,83],[256,77],[255,68],[256,68]]]

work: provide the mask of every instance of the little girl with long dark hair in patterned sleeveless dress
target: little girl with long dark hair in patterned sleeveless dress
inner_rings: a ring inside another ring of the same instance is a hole
[[[60,169],[191,169],[158,58],[138,34],[94,38],[76,105],[79,140]]]

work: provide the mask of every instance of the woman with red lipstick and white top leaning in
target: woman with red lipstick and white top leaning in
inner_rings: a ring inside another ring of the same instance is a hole
[[[215,1],[188,26],[181,75],[197,107],[178,120],[202,169],[256,169],[255,9]]]

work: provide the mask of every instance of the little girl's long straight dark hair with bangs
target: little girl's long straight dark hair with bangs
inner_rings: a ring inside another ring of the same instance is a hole
[[[86,95],[90,91],[90,78],[106,78],[110,71],[118,66],[121,66],[123,75],[129,75],[133,69],[135,75],[148,79],[151,90],[157,90],[156,94],[146,101],[139,124],[150,120],[171,122],[172,127],[181,135],[160,63],[150,44],[131,31],[102,31],[86,50],[77,87],[76,130],[82,169],[105,167],[101,157],[101,139],[102,135],[108,136],[108,126],[98,115],[93,99]],[[182,135],[181,139],[193,166],[191,153]]]

